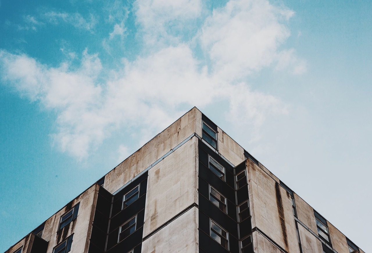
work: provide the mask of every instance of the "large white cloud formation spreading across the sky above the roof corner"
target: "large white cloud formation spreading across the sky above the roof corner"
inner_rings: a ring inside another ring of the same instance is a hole
[[[113,131],[133,126],[147,132],[144,142],[154,129],[177,118],[184,106],[203,108],[216,101],[226,102],[231,120],[257,132],[268,115],[288,113],[285,103],[251,90],[244,77],[275,62],[284,66],[283,70],[296,65],[291,60],[296,58],[294,51],[279,50],[289,36],[286,22],[293,14],[290,10],[267,1],[230,1],[215,10],[196,29],[193,39],[212,62],[203,64],[191,46],[194,42],[182,41],[168,29],[170,21],[182,25],[198,17],[202,11],[199,1],[139,0],[135,6],[142,27],[139,34],[156,47],[133,61],[124,59],[116,70],[102,66],[98,55],[87,51],[75,68],[68,63],[51,68],[27,55],[1,52],[3,80],[58,113],[54,139],[62,151],[86,158]],[[154,20],[156,24],[151,23]],[[114,27],[112,36],[124,32],[123,27],[118,26],[116,32]],[[157,43],[168,37],[178,42]],[[253,136],[258,137],[257,133]]]

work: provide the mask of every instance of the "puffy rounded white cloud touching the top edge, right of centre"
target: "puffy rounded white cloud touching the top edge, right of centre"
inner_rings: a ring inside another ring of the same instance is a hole
[[[291,10],[263,0],[231,0],[206,19],[201,43],[220,76],[233,80],[269,66],[290,35]]]

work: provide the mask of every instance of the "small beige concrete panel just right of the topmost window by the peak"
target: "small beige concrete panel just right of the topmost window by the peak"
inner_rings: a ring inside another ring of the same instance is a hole
[[[230,163],[237,166],[244,161],[244,149],[231,139],[221,128],[218,130],[218,152],[222,154]]]

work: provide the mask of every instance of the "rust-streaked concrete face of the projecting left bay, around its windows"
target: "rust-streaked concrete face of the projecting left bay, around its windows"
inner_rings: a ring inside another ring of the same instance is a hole
[[[57,244],[73,233],[74,238],[71,253],[88,252],[98,189],[98,185],[93,185],[45,222],[42,238],[49,241],[47,253],[52,253],[53,248]],[[79,202],[80,205],[76,220],[73,220],[70,224],[62,228],[62,230],[58,231],[60,217]]]

